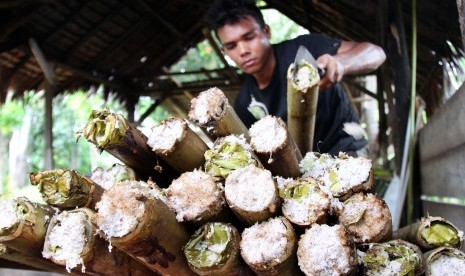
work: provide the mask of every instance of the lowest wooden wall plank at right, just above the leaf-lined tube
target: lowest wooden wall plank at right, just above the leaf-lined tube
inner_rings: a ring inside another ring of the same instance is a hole
[[[444,217],[460,230],[465,229],[465,206],[423,201],[423,215],[427,214]]]

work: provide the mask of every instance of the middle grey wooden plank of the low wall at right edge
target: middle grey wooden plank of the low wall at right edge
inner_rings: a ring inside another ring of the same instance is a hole
[[[421,163],[422,192],[465,198],[465,144],[437,158]]]

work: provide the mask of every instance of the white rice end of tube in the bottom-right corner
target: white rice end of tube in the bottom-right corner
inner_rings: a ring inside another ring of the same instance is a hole
[[[465,256],[462,256],[462,258],[460,258],[452,254],[439,254],[439,256],[435,257],[430,263],[431,275],[463,275],[465,272],[464,257]]]

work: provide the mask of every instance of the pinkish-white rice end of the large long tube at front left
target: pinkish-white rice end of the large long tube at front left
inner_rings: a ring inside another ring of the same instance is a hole
[[[133,231],[145,212],[140,196],[152,197],[140,182],[126,181],[105,191],[97,203],[95,222],[108,237],[123,237]]]

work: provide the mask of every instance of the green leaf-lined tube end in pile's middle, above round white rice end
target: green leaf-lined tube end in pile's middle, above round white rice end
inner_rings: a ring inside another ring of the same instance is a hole
[[[205,160],[205,171],[220,179],[249,165],[263,167],[244,137],[236,135],[217,139],[213,148],[205,152]]]

